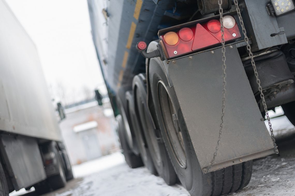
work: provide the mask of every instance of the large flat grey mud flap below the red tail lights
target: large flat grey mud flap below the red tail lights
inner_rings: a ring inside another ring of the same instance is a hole
[[[226,103],[222,137],[209,171],[274,153],[237,47],[226,47]],[[202,169],[215,151],[222,109],[221,48],[174,59],[168,73]]]

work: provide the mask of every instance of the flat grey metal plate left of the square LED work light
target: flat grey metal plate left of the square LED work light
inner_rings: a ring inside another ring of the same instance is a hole
[[[248,36],[253,39],[252,49],[262,50],[272,46],[288,43],[286,34],[271,36],[271,34],[284,31],[279,28],[276,17],[270,16],[266,10],[269,0],[244,0],[246,9],[242,11],[242,17]]]

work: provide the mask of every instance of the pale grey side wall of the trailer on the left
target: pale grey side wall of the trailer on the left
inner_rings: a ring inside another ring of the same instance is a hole
[[[61,140],[37,49],[0,0],[0,130]]]

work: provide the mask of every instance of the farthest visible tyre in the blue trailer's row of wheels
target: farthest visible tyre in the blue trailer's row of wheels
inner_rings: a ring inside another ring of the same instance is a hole
[[[124,131],[124,124],[122,120],[122,116],[119,114],[116,116],[117,121],[117,132],[119,135],[121,148],[123,150],[123,155],[125,157],[126,163],[131,168],[137,168],[143,166],[141,157],[139,155],[135,155],[132,150],[129,148],[126,137],[125,137],[125,131]]]

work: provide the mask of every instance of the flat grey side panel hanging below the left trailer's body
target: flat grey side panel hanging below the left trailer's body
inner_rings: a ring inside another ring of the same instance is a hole
[[[46,179],[36,140],[2,134],[0,149],[16,190]]]

